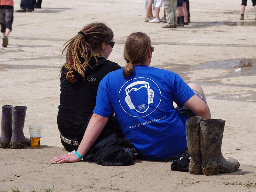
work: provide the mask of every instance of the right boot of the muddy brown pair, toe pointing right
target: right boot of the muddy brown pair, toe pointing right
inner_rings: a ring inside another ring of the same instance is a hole
[[[226,160],[222,156],[221,144],[225,122],[222,119],[204,119],[200,121],[201,173],[203,175],[235,172],[240,166],[236,159]]]

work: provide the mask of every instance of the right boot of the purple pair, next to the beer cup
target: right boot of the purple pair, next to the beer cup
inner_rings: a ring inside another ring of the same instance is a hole
[[[30,146],[30,139],[23,133],[23,127],[26,117],[26,106],[16,106],[13,108],[12,138],[10,148],[19,149]]]

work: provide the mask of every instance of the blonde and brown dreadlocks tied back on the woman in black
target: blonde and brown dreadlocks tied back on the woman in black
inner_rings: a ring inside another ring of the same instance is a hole
[[[66,63],[61,69],[74,69],[84,77],[85,68],[91,67],[89,62],[92,58],[96,60],[96,65],[98,64],[96,56],[100,56],[101,44],[110,42],[113,36],[113,31],[104,23],[91,23],[85,26],[63,45],[65,48],[61,56],[67,47],[68,49]]]

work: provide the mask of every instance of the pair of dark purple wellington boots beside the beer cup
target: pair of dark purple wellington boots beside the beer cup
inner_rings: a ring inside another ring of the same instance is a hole
[[[26,106],[12,105],[2,107],[0,148],[19,149],[30,145],[30,139],[23,133],[26,117]]]

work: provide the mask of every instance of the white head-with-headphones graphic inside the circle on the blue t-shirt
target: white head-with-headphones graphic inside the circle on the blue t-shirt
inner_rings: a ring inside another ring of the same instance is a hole
[[[139,88],[135,88],[134,86],[136,85],[140,85],[141,86]],[[146,88],[148,90],[148,106],[145,105],[139,105],[138,109],[134,107],[131,97],[130,97],[130,92],[134,91],[138,91],[141,88]],[[126,88],[125,88],[125,93],[126,93],[126,97],[125,97],[125,102],[126,104],[129,106],[130,109],[135,109],[135,111],[139,112],[139,113],[145,113],[148,108],[149,108],[149,104],[153,103],[154,101],[154,91],[152,89],[150,89],[149,83],[146,81],[136,81],[133,82],[131,84],[129,84]]]

